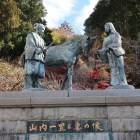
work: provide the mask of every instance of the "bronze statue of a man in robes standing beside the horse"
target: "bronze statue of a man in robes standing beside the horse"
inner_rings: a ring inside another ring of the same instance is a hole
[[[24,89],[41,88],[39,79],[45,76],[45,47],[44,40],[41,37],[45,31],[45,26],[36,23],[34,28],[36,31],[27,35],[24,48]]]

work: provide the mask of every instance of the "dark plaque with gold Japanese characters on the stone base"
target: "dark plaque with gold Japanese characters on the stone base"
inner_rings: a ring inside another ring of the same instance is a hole
[[[110,132],[110,120],[28,121],[27,133]]]

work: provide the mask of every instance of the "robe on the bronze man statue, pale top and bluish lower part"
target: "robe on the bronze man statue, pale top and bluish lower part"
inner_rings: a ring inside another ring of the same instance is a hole
[[[25,75],[36,75],[40,78],[45,76],[44,68],[44,40],[36,33],[29,33],[25,45]],[[36,50],[41,49],[42,53],[37,54]]]

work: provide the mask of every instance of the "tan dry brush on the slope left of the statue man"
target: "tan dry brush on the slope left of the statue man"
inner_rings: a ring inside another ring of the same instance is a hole
[[[21,90],[22,86],[22,68],[0,60],[0,91]]]

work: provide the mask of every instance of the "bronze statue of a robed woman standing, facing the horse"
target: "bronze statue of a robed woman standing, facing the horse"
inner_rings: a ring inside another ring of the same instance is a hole
[[[125,51],[122,48],[121,36],[111,22],[106,23],[104,28],[107,36],[104,38],[102,49],[97,51],[97,55],[110,66],[112,88],[128,88],[123,60]]]

